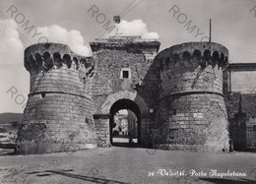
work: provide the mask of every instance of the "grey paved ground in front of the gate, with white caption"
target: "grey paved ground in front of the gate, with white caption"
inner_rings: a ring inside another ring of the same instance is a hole
[[[161,169],[161,170],[160,170]],[[164,170],[165,169],[165,173]],[[178,173],[179,176],[167,176]],[[196,170],[197,176],[189,173]],[[246,176],[210,176],[239,172]],[[182,176],[184,173],[187,176]],[[198,175],[205,172],[207,176]],[[161,175],[162,174],[162,175]],[[256,153],[185,153],[106,148],[75,153],[1,155],[0,183],[256,183]]]

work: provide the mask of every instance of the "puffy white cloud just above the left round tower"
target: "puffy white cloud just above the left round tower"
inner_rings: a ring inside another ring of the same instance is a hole
[[[42,35],[47,37],[48,42],[67,44],[72,51],[78,54],[84,56],[92,55],[91,48],[85,44],[84,37],[80,31],[67,31],[58,25],[52,25],[50,27],[39,27],[37,32],[42,32]]]

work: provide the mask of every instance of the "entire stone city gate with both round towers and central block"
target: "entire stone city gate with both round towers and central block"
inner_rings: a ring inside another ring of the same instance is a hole
[[[136,114],[141,147],[228,148],[224,46],[189,42],[158,54],[160,42],[140,36],[96,39],[90,45],[93,57],[57,43],[26,49],[31,92],[16,153],[109,147],[120,109]]]

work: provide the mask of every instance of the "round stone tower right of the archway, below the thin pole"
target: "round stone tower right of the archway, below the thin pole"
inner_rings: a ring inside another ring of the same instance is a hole
[[[214,42],[188,42],[159,53],[160,99],[154,147],[164,150],[228,149],[223,68],[227,49]]]

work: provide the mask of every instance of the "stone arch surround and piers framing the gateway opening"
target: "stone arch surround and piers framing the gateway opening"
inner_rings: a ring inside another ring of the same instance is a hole
[[[100,109],[101,112],[94,115],[96,127],[100,129],[100,131],[96,131],[96,135],[105,135],[105,139],[98,138],[98,145],[101,147],[112,145],[114,115],[122,109],[131,110],[136,115],[138,145],[142,145],[142,122],[147,122],[150,110],[147,103],[137,92],[122,91],[111,93],[106,97]],[[102,129],[102,127],[104,128]]]

